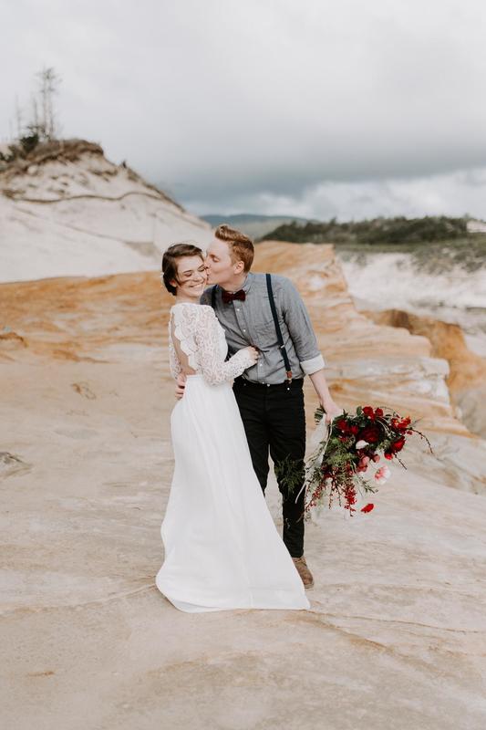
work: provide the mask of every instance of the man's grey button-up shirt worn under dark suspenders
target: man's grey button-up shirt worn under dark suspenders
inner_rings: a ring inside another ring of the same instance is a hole
[[[256,365],[244,370],[243,378],[266,385],[282,383],[286,370],[275,332],[265,275],[248,274],[242,288],[246,294],[244,301],[236,299],[224,304],[222,288],[216,286],[214,311],[224,328],[229,354],[254,345],[260,350],[260,356]],[[285,276],[272,274],[272,288],[293,377],[312,375],[324,368],[324,360],[305,304],[294,284]],[[202,294],[201,303],[211,306],[212,287]]]

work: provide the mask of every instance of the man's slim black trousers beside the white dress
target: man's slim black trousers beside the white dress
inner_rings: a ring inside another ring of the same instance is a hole
[[[292,381],[290,390],[286,383],[280,385],[263,385],[243,381],[234,381],[233,392],[242,415],[244,430],[253,469],[262,486],[263,492],[267,484],[268,454],[274,464],[293,464],[293,471],[300,472],[299,484],[292,491],[278,478],[278,487],[282,494],[282,510],[284,517],[284,544],[293,558],[301,558],[304,554],[304,492],[295,503],[295,497],[304,483],[305,455],[305,411],[304,381]]]

